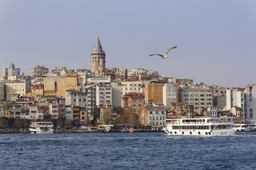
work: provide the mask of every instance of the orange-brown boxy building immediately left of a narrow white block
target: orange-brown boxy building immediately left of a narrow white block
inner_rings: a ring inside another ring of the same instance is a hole
[[[164,83],[146,83],[145,84],[145,102],[155,100],[163,103]]]

